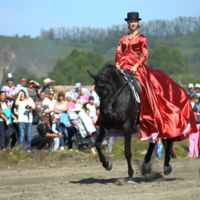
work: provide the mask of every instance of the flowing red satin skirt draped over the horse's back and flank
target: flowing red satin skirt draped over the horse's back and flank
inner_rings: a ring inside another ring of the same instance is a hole
[[[184,88],[159,70],[143,65],[137,69],[140,83],[141,140],[158,137],[184,140],[196,133],[196,120]]]

